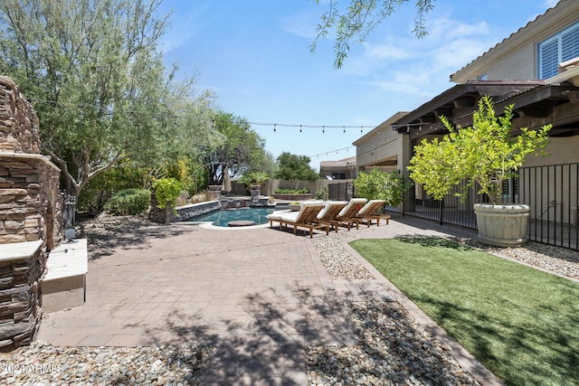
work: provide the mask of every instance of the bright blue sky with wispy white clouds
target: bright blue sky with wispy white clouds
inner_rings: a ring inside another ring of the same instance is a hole
[[[412,34],[413,1],[353,44],[336,70],[331,35],[308,46],[327,9],[309,0],[166,0],[167,65],[195,75],[215,104],[250,122],[275,157],[310,156],[313,167],[356,155],[357,138],[397,111],[411,111],[453,86],[451,73],[556,5],[556,0],[438,0],[428,36]],[[338,4],[344,6],[349,0]],[[280,125],[303,125],[282,127]],[[340,128],[309,128],[337,126]],[[344,133],[346,126],[346,133]],[[349,128],[354,126],[356,128]],[[361,127],[364,127],[361,132]]]

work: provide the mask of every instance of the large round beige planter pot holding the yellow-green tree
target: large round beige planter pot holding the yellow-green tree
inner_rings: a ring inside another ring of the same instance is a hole
[[[530,208],[519,203],[475,203],[479,240],[496,247],[518,247],[527,242]]]

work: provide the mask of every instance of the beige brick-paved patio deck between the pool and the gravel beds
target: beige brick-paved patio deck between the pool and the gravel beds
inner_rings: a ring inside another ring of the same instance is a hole
[[[45,314],[37,338],[65,346],[217,345],[201,384],[305,385],[305,346],[357,342],[344,299],[394,299],[482,384],[500,384],[347,245],[373,279],[332,280],[305,233],[267,224],[155,228],[153,236],[122,235],[104,252],[89,245],[86,303]],[[340,232],[351,240],[473,235],[394,216],[389,225]],[[314,240],[324,237],[314,232]]]

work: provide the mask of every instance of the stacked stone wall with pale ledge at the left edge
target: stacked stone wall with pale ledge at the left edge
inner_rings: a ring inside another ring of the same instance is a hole
[[[40,155],[30,103],[0,76],[0,350],[29,344],[42,317],[47,250],[63,238],[60,170]]]

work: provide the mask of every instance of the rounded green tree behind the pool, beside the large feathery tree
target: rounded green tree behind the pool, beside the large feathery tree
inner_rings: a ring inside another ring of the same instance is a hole
[[[265,140],[249,127],[246,119],[218,111],[214,127],[220,139],[206,149],[203,158],[209,168],[210,184],[222,184],[223,165],[228,166],[232,177],[260,169],[266,155]]]

